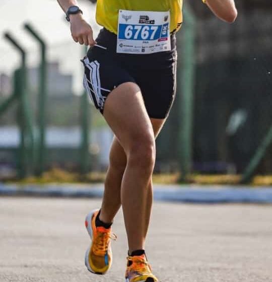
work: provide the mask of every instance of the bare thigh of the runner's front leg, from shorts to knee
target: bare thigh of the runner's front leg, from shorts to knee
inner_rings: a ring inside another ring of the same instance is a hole
[[[125,152],[155,148],[153,127],[137,84],[115,88],[106,99],[103,115]]]

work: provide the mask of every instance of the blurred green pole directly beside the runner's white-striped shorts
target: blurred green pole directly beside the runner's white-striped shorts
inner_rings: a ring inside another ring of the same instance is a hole
[[[84,48],[84,54],[87,52],[87,46]],[[90,103],[88,101],[88,94],[86,91],[81,96],[81,154],[80,165],[81,173],[89,172],[89,132],[90,132]]]

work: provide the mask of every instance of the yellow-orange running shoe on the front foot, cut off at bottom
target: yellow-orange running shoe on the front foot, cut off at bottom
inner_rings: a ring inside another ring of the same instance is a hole
[[[157,282],[158,279],[151,272],[145,254],[128,256],[125,272],[125,282]]]

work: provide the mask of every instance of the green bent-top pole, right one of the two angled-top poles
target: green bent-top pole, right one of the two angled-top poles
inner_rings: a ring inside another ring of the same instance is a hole
[[[46,43],[39,33],[30,24],[25,24],[24,28],[40,44],[40,78],[39,78],[39,100],[38,100],[38,124],[39,124],[39,141],[37,159],[35,160],[35,174],[42,175],[45,167],[45,110],[47,96],[47,63],[46,63]]]

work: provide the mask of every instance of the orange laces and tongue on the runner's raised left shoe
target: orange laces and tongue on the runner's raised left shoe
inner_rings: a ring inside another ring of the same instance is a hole
[[[110,233],[109,229],[104,227],[97,227],[97,238],[96,244],[94,245],[94,252],[97,255],[105,255],[108,251],[109,240],[116,240],[117,236],[113,233]]]

